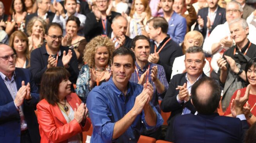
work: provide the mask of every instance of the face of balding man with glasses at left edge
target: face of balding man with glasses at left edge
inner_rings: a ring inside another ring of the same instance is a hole
[[[11,56],[14,54],[12,48],[8,45],[0,45],[0,57]],[[0,72],[4,73],[4,75],[8,75],[13,73],[15,70],[15,59],[9,57],[9,59],[5,60],[4,58],[0,58]]]

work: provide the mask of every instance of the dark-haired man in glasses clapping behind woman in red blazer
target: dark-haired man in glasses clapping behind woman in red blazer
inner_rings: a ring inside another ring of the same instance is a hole
[[[69,72],[69,80],[76,83],[79,69],[75,51],[61,45],[62,29],[58,23],[50,23],[45,31],[46,43],[31,52],[30,71],[35,83],[40,86],[44,71],[53,66],[64,66]],[[75,89],[71,86],[71,90]]]

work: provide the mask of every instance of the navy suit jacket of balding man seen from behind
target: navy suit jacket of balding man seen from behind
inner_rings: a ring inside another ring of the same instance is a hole
[[[173,130],[175,143],[242,143],[248,128],[246,120],[198,113],[176,117]]]

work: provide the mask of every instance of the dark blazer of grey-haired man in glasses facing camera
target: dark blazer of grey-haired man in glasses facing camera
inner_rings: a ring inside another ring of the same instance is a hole
[[[196,112],[195,107],[192,105],[190,101],[187,103],[178,103],[177,101],[177,95],[179,94],[179,90],[176,90],[176,87],[178,85],[183,85],[184,83],[187,83],[186,80],[186,74],[187,73],[181,73],[174,75],[170,81],[168,90],[164,96],[164,99],[161,103],[161,109],[163,112],[172,112],[169,119],[167,120],[168,128],[166,131],[165,140],[172,141],[173,142],[173,122],[176,116],[181,115],[183,109],[186,107],[188,108],[192,113]],[[202,77],[206,77],[206,75],[203,73]]]

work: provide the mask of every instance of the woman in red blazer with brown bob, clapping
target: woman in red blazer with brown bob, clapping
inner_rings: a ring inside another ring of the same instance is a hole
[[[75,93],[71,93],[69,72],[62,67],[46,70],[41,80],[41,101],[37,104],[37,120],[41,143],[82,142],[82,131],[91,121],[88,110]]]

